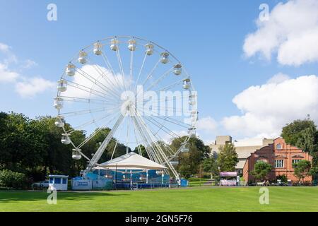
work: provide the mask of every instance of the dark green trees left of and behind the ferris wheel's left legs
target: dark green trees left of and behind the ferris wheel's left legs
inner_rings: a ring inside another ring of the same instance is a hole
[[[28,182],[37,182],[48,174],[75,177],[81,169],[85,169],[87,160],[83,157],[81,160],[72,159],[73,147],[61,143],[62,131],[54,125],[54,121],[54,117],[29,119],[23,114],[0,112],[0,170],[23,173]],[[66,124],[66,129],[71,129],[71,125]],[[82,152],[91,157],[109,131],[108,128],[102,129],[83,146]],[[87,136],[86,131],[71,134],[74,143],[81,143]],[[115,144],[113,139],[101,161],[110,160]],[[114,157],[124,153],[126,146],[117,143]]]

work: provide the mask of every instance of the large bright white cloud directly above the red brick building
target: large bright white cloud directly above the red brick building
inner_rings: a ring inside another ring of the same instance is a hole
[[[273,138],[279,136],[285,124],[304,119],[307,114],[318,122],[317,96],[317,76],[251,86],[232,100],[242,115],[224,117],[222,124],[240,137]]]

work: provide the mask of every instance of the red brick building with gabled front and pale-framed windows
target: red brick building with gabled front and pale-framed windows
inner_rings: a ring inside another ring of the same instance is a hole
[[[285,143],[283,138],[276,138],[273,143],[256,150],[251,153],[245,162],[243,168],[243,177],[245,182],[254,182],[254,177],[251,172],[254,169],[254,164],[257,161],[268,162],[273,166],[269,173],[269,180],[275,180],[279,175],[286,175],[292,182],[298,182],[294,176],[293,162],[299,160],[308,160],[312,162],[312,156],[301,149]],[[311,182],[312,177],[306,177],[305,182]]]

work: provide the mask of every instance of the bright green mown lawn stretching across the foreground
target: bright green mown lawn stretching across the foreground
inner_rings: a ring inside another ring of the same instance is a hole
[[[318,211],[318,187],[196,187],[143,191],[59,192],[57,205],[45,191],[0,191],[0,211]]]

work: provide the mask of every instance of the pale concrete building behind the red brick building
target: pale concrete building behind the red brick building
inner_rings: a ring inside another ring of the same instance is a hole
[[[225,143],[233,143],[235,145],[235,150],[239,159],[235,169],[237,170],[238,174],[242,175],[243,167],[247,157],[249,157],[249,155],[251,155],[251,153],[257,149],[269,145],[269,143],[273,143],[273,139],[252,138],[232,142],[231,136],[217,136],[216,141],[210,145],[211,155],[216,157],[218,155],[220,146],[225,145]]]

